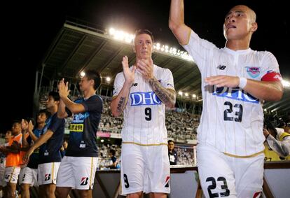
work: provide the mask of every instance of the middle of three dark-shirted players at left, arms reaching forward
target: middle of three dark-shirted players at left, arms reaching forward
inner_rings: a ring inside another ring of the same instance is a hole
[[[46,108],[51,113],[46,120],[46,125],[37,141],[29,148],[23,159],[29,161],[30,155],[39,148],[39,188],[44,195],[41,197],[55,197],[56,176],[62,157],[60,147],[64,138],[64,119],[57,116],[60,104],[60,95],[57,92],[49,92]]]

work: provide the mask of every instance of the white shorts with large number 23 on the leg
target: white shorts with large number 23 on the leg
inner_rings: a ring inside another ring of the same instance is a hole
[[[198,145],[198,174],[205,197],[254,197],[262,192],[264,154],[238,158]]]

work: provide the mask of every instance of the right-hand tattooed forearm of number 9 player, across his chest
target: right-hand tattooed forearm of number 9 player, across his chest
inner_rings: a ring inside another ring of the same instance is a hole
[[[158,98],[163,101],[164,104],[174,104],[174,94],[163,87],[156,78],[150,78],[149,84],[153,88]]]

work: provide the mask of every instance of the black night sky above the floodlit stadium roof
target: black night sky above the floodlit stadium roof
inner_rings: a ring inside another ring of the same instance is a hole
[[[258,30],[251,49],[268,50],[278,60],[282,77],[290,80],[290,17],[286,1],[193,1],[185,0],[185,22],[201,38],[219,48],[225,45],[223,20],[231,7],[244,4],[256,11]],[[177,46],[168,28],[170,0],[110,1],[11,1],[1,13],[2,21],[2,115],[0,132],[14,119],[31,117],[36,68],[60,31],[66,17],[115,27],[134,33],[150,29],[156,41]],[[3,52],[4,51],[4,52]],[[8,80],[7,80],[8,79]]]

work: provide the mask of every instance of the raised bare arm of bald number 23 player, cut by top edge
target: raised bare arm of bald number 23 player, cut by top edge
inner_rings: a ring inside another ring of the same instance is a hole
[[[181,45],[186,45],[191,28],[184,24],[184,0],[171,0],[169,27]]]

